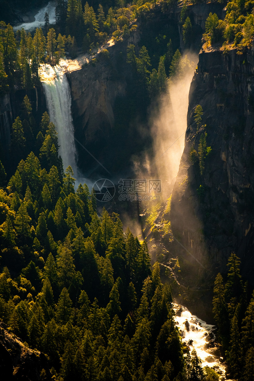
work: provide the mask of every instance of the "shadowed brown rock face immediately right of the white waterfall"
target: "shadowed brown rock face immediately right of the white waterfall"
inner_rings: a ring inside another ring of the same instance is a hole
[[[105,152],[110,152],[115,123],[115,101],[125,97],[126,76],[131,75],[129,66],[124,63],[126,47],[127,42],[113,45],[108,51],[100,53],[94,62],[83,65],[80,70],[67,73],[75,137],[82,146],[103,162]],[[79,144],[76,146],[78,166],[84,169],[90,164],[91,157]]]

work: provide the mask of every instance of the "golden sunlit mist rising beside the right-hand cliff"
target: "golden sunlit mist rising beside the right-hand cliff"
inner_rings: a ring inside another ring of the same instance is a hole
[[[141,160],[133,161],[136,176],[161,181],[160,195],[164,200],[171,194],[184,150],[190,83],[197,62],[197,55],[183,54],[179,72],[168,80],[166,93],[150,109],[153,153],[146,152]]]

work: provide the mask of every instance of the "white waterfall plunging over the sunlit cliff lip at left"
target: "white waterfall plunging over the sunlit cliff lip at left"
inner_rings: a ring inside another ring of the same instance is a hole
[[[64,170],[70,165],[77,178],[77,152],[74,142],[70,86],[64,73],[64,65],[54,67],[42,65],[40,76],[50,121],[54,123],[58,132],[59,155],[61,155]]]

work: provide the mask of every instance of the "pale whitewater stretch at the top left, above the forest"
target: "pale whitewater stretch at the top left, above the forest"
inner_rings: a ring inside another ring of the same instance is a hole
[[[18,29],[24,28],[25,30],[34,30],[36,28],[40,28],[45,24],[45,13],[48,13],[50,24],[56,23],[56,2],[50,1],[46,6],[41,8],[37,14],[35,14],[35,21],[32,22],[23,22],[22,24],[15,25],[13,30],[16,31]]]

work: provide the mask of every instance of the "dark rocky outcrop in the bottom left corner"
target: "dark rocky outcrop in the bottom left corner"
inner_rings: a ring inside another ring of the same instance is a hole
[[[39,351],[32,351],[0,323],[0,369],[2,380],[51,380],[46,356]]]

